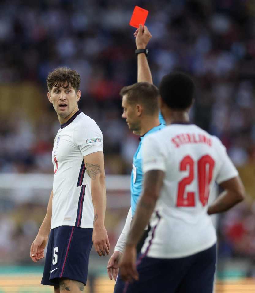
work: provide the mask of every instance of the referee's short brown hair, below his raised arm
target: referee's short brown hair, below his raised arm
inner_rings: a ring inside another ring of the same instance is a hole
[[[127,102],[135,106],[141,104],[147,115],[159,113],[159,89],[148,82],[138,82],[131,86],[124,86],[120,95],[127,96]]]

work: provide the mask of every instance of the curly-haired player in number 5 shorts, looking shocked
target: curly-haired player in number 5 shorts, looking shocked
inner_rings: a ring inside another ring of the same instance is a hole
[[[48,242],[41,283],[53,285],[55,293],[83,291],[92,244],[99,256],[110,249],[104,227],[103,136],[96,122],[78,108],[80,82],[77,71],[66,67],[47,77],[48,99],[61,128],[52,151],[53,190],[30,257],[34,262],[42,259]]]

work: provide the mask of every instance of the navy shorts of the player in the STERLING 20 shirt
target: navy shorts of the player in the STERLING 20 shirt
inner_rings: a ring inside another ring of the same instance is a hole
[[[159,259],[142,255],[139,280],[126,283],[123,293],[212,293],[216,244],[184,258]]]

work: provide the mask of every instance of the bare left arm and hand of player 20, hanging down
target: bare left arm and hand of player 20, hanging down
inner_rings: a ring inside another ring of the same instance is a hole
[[[138,280],[139,278],[135,267],[136,246],[144,233],[145,227],[148,225],[156,201],[159,198],[163,178],[164,172],[160,170],[152,170],[144,174],[144,191],[137,204],[126,248],[120,261],[120,274],[124,281],[133,282],[133,280]]]

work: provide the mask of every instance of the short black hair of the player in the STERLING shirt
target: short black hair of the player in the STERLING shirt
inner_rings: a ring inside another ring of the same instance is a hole
[[[192,104],[195,85],[189,75],[172,72],[165,75],[159,84],[162,100],[169,108],[184,110]]]

